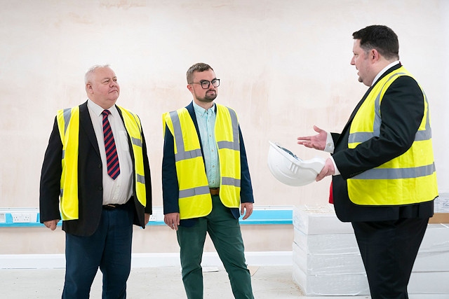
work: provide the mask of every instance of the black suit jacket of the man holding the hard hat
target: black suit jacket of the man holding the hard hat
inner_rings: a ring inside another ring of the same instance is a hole
[[[391,67],[377,80],[377,83],[399,67],[401,64]],[[434,213],[433,201],[407,206],[373,207],[357,205],[349,200],[347,179],[405,153],[413,143],[415,133],[424,116],[420,86],[415,79],[401,76],[390,85],[380,104],[382,115],[380,137],[372,138],[354,149],[349,149],[349,128],[352,120],[374,86],[368,89],[357,104],[342,133],[332,133],[335,144],[333,159],[341,173],[341,175],[333,176],[333,200],[337,217],[346,222],[431,217]]]

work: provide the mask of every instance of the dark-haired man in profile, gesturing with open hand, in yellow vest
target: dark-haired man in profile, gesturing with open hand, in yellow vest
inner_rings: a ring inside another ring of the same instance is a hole
[[[298,144],[333,153],[316,181],[333,175],[341,221],[351,222],[371,298],[408,298],[413,263],[438,196],[427,97],[402,67],[389,27],[354,32],[351,64],[370,88],[342,133],[298,137]]]

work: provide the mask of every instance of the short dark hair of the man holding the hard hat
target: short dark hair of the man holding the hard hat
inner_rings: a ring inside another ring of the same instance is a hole
[[[399,59],[398,36],[391,28],[383,25],[371,25],[352,34],[360,39],[360,47],[368,52],[376,49],[387,60]]]

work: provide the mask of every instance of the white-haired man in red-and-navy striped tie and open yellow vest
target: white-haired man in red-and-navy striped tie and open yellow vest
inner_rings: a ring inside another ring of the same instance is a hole
[[[152,213],[147,146],[140,119],[116,106],[109,66],[85,76],[88,101],[58,111],[43,160],[40,221],[66,232],[62,298],[88,298],[98,271],[103,298],[126,298],[133,224]]]

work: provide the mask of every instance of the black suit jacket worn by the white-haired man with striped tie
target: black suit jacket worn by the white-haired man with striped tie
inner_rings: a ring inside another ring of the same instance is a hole
[[[121,116],[120,109],[117,109]],[[123,116],[121,116],[123,120]],[[143,137],[143,133],[142,133]],[[128,143],[130,139],[128,137]],[[145,213],[152,213],[152,184],[149,172],[147,146],[143,137],[143,163],[145,169],[145,186],[147,188],[147,204],[143,207],[135,195],[130,199],[134,202],[134,224],[145,228]],[[131,144],[130,144],[130,148]],[[134,162],[133,151],[130,151]],[[39,196],[40,221],[60,219],[59,196],[62,174],[62,142],[55,118],[48,147],[43,159],[41,186]],[[89,115],[87,102],[79,105],[79,156],[78,156],[78,197],[79,218],[62,221],[62,230],[73,235],[89,236],[98,227],[102,212],[102,161],[98,141]],[[133,176],[134,178],[135,176]],[[133,182],[133,190],[135,181]],[[133,191],[135,194],[135,191]]]

